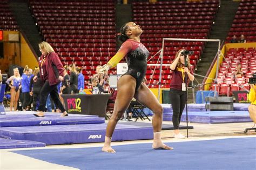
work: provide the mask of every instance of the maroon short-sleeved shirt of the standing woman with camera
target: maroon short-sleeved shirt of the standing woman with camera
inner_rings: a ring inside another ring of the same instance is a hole
[[[192,69],[190,69],[190,73],[193,75]],[[187,74],[185,74],[185,77],[187,78],[187,83],[188,83],[190,79],[188,78]],[[185,80],[185,77],[184,77],[184,80]],[[178,67],[176,66],[175,70],[172,70],[170,89],[182,90],[182,83],[183,83],[182,72],[178,71]]]

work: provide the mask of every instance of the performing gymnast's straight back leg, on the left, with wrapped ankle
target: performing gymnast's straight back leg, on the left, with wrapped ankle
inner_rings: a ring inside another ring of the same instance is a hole
[[[124,75],[119,78],[117,83],[117,98],[114,102],[113,114],[107,123],[105,143],[102,148],[103,152],[114,153],[114,149],[111,147],[111,138],[116,128],[117,122],[129,107],[131,100],[134,96],[136,89],[136,79],[130,75]]]

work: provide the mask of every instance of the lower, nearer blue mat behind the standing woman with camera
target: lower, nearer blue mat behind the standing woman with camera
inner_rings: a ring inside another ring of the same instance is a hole
[[[172,113],[164,113],[163,120],[172,121]],[[186,113],[183,112],[181,121],[186,121]],[[248,111],[208,111],[188,112],[188,121],[193,123],[219,124],[251,122]]]

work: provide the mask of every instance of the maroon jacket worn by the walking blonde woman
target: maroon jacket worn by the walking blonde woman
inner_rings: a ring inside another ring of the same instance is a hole
[[[38,63],[40,76],[44,82],[48,80],[50,86],[60,82],[58,76],[64,76],[64,67],[57,53],[51,52],[45,57],[41,56]]]

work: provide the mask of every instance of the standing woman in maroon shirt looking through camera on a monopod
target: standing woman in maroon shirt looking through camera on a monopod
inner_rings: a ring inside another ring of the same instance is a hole
[[[169,97],[172,105],[172,123],[174,126],[174,138],[183,139],[184,135],[179,132],[179,124],[182,112],[186,105],[186,83],[194,80],[193,71],[190,65],[190,59],[187,57],[190,51],[179,50],[173,60],[170,69],[172,70],[172,78],[170,84]],[[186,56],[186,58],[185,58]],[[186,59],[186,61],[185,61]]]

